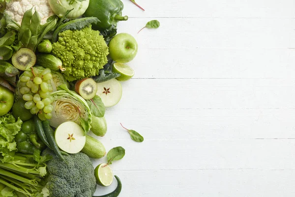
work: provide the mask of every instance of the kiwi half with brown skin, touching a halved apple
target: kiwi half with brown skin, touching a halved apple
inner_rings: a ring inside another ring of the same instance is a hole
[[[91,78],[81,79],[75,84],[75,91],[83,99],[92,99],[97,92],[96,82]]]

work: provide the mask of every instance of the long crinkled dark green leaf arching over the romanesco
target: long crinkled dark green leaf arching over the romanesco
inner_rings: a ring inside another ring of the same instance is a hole
[[[84,27],[91,25],[91,23],[96,24],[97,22],[100,21],[96,17],[85,17],[64,23],[63,25],[59,26],[53,33],[52,42],[57,41],[60,32],[66,30],[82,30]]]

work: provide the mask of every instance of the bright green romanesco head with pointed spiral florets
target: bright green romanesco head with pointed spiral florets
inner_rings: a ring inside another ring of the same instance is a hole
[[[74,81],[98,75],[99,69],[108,62],[109,48],[99,31],[86,27],[59,33],[52,52],[62,61],[65,79]]]

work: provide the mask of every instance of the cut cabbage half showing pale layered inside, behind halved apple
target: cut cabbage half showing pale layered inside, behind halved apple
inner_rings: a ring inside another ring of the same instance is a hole
[[[52,92],[51,96],[54,101],[50,125],[57,128],[64,122],[72,121],[79,124],[87,134],[91,128],[91,112],[86,100],[64,84],[58,87],[58,91]]]

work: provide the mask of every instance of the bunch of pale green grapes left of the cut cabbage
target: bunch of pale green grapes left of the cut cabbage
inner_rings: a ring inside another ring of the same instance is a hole
[[[23,95],[25,108],[30,110],[31,114],[38,114],[41,120],[51,119],[53,97],[50,92],[53,91],[50,80],[52,79],[51,70],[45,68],[41,73],[38,69],[32,71],[26,70],[20,77],[20,93]]]

